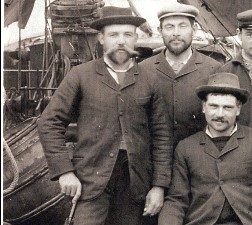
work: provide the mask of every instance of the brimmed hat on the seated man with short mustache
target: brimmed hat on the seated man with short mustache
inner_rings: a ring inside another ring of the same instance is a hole
[[[211,75],[207,85],[202,85],[196,88],[196,94],[202,100],[204,100],[209,93],[231,94],[243,104],[249,97],[249,92],[240,88],[238,76],[224,72]]]

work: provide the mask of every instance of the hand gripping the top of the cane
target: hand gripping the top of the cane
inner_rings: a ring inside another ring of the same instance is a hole
[[[74,197],[72,203],[76,203],[81,195],[81,182],[73,172],[62,174],[59,178],[61,192]]]

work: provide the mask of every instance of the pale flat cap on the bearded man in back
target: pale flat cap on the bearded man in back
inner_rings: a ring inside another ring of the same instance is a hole
[[[158,19],[163,19],[169,16],[187,16],[195,18],[199,14],[199,10],[192,6],[181,3],[169,4],[158,11]]]

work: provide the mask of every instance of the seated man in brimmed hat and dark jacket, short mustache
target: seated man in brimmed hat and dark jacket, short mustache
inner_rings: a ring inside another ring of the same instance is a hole
[[[236,120],[249,92],[235,74],[216,73],[196,93],[207,126],[175,150],[159,225],[252,224],[252,128]]]

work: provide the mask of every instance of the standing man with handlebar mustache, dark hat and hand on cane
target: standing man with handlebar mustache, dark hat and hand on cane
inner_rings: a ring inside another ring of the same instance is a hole
[[[43,112],[38,131],[52,180],[78,200],[76,225],[142,225],[157,214],[171,179],[172,143],[155,76],[133,60],[136,28],[130,8],[104,7],[91,24],[100,59],[73,67]],[[66,127],[77,120],[73,156]]]

